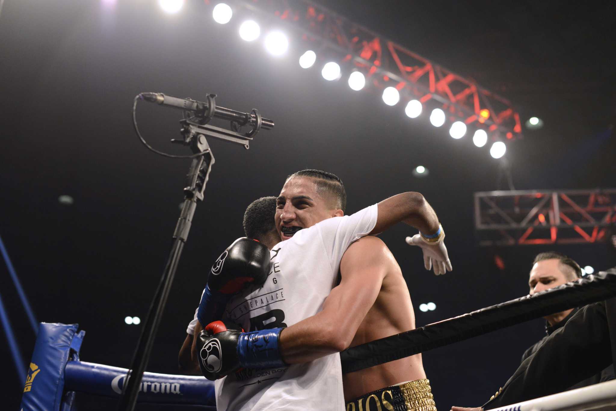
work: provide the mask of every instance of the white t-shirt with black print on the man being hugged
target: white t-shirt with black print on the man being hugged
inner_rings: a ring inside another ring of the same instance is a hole
[[[264,285],[233,296],[224,319],[248,332],[290,327],[317,314],[336,285],[342,255],[375,227],[377,210],[372,205],[326,219],[275,245]],[[339,354],[282,368],[243,369],[215,387],[218,410],[342,410],[345,405]]]

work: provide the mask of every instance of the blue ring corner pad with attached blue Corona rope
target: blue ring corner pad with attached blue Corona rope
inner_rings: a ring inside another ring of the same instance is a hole
[[[39,325],[21,410],[71,411],[75,393],[120,398],[128,370],[81,362],[79,350],[85,334],[78,332],[77,324]],[[140,403],[216,410],[214,383],[203,376],[145,372],[137,390]]]

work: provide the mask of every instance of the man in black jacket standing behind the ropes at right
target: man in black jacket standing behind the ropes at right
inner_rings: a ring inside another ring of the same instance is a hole
[[[616,269],[609,272],[616,274]],[[530,272],[530,294],[573,281],[580,266],[559,253],[541,253]],[[522,364],[483,409],[556,394],[614,379],[616,299],[549,315],[546,336],[522,356]],[[482,408],[453,407],[453,411]]]

